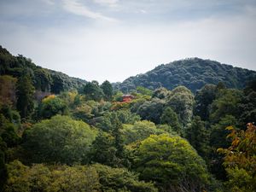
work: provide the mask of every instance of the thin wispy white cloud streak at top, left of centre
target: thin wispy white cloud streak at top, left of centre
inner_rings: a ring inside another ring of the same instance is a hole
[[[113,18],[102,15],[101,13],[94,12],[86,7],[84,4],[79,3],[77,0],[63,0],[63,8],[74,15],[85,16],[90,19],[95,20],[108,20],[108,21],[116,21]]]

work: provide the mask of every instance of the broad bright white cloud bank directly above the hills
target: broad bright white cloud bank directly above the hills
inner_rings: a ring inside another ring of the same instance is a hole
[[[31,57],[38,65],[100,82],[121,81],[161,63],[195,56],[256,70],[253,19],[245,15],[172,26],[79,26],[42,34],[14,28],[11,37],[2,35],[0,41],[8,49],[15,48],[10,49],[12,53]]]

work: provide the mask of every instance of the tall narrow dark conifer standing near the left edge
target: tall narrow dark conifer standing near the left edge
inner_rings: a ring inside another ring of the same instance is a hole
[[[26,118],[34,108],[33,96],[35,88],[29,76],[21,76],[17,82],[17,109],[22,118]]]

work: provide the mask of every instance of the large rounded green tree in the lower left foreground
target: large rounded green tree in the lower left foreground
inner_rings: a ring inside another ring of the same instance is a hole
[[[90,144],[96,137],[96,131],[82,121],[57,115],[32,126],[26,131],[26,152],[33,163],[87,162]]]

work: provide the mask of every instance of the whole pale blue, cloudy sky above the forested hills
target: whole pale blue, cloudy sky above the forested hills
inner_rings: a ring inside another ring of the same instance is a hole
[[[256,0],[0,0],[0,45],[100,83],[190,57],[256,70]]]

